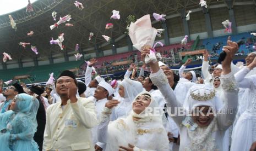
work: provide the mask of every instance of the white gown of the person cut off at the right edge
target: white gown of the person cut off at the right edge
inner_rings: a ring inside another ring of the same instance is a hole
[[[231,150],[249,150],[250,146],[256,141],[256,75],[250,75],[249,68],[243,68],[236,73],[236,80],[240,88],[249,91],[246,101],[246,111],[238,118],[232,132]]]

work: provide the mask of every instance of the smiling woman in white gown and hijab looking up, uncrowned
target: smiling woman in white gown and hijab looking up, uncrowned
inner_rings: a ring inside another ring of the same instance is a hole
[[[127,117],[110,121],[112,107],[106,104],[98,127],[98,133],[101,133],[98,139],[107,143],[106,151],[169,151],[167,132],[162,124],[164,114],[155,112],[154,108],[159,108],[159,104],[149,92],[141,92],[134,98]]]

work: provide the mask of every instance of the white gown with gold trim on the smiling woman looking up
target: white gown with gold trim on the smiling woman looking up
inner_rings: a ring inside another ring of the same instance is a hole
[[[98,127],[98,140],[106,143],[106,151],[118,151],[119,146],[135,146],[134,151],[170,151],[167,132],[161,123],[152,121],[136,122],[132,116],[110,121],[104,108]]]

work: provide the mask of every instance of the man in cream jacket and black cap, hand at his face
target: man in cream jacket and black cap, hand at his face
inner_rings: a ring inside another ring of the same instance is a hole
[[[46,111],[43,150],[94,150],[90,129],[97,124],[92,100],[78,97],[77,80],[63,71],[56,82],[61,101]]]

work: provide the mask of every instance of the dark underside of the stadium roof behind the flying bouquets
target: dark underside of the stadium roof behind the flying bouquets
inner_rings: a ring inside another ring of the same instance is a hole
[[[34,1],[31,0],[31,2]],[[80,0],[79,2],[83,3],[83,10],[75,7],[74,0],[40,0],[32,3],[34,11],[31,13],[26,13],[26,8],[10,13],[17,23],[17,31],[10,26],[9,14],[1,15],[0,52],[5,51],[14,60],[34,58],[35,53],[30,50],[30,45],[24,50],[18,44],[19,42],[30,42],[32,45],[36,45],[40,53],[39,56],[63,53],[58,45],[49,43],[51,37],[57,39],[62,32],[64,33],[63,44],[66,46],[64,51],[74,51],[75,44],[79,44],[82,49],[93,50],[95,44],[106,44],[102,35],[116,40],[124,37],[128,15],[135,15],[138,19],[145,14],[154,12],[170,16],[180,13],[181,9],[186,11],[200,9],[199,0]],[[236,0],[236,2],[244,1]],[[224,0],[208,0],[207,3],[208,5],[225,4]],[[120,11],[120,20],[110,19],[114,9]],[[72,19],[66,23],[74,24],[74,26],[67,27],[62,24],[51,30],[50,25],[57,22],[52,19],[53,11],[57,12],[57,21],[60,16],[71,15]],[[114,25],[112,30],[105,29],[109,22]],[[34,31],[34,35],[26,36],[30,31]],[[89,40],[90,32],[94,33],[91,40]]]

